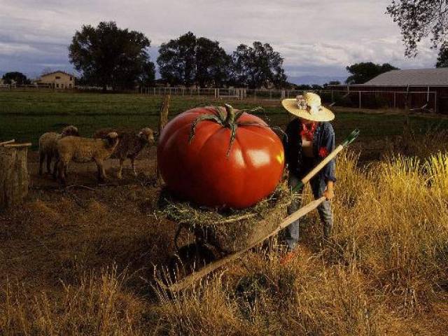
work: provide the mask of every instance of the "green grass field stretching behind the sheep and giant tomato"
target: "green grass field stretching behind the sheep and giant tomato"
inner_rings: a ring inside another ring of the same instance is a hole
[[[0,141],[16,139],[31,141],[37,148],[38,137],[44,132],[59,132],[65,125],[76,125],[80,134],[90,137],[102,127],[156,127],[162,97],[141,94],[97,94],[66,92],[0,92]],[[223,104],[208,97],[172,97],[170,118],[195,106]],[[280,102],[233,101],[239,109],[262,106],[258,115],[269,125],[283,126],[288,113]],[[354,128],[361,130],[360,140],[380,139],[401,134],[403,116],[394,113],[364,113],[335,108],[337,118],[333,125],[337,141]],[[439,128],[447,129],[448,120],[411,116],[410,124],[416,132]]]

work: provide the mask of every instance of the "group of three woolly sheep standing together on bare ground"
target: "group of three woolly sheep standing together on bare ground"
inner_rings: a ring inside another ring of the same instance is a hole
[[[144,128],[137,132],[116,129],[98,130],[92,139],[79,136],[73,125],[64,127],[60,134],[47,132],[39,138],[39,174],[42,174],[43,163],[47,163],[47,172],[62,184],[66,184],[67,167],[73,162],[95,162],[98,169],[98,181],[107,178],[104,160],[117,158],[120,160],[117,177],[122,179],[125,160],[130,159],[132,173],[137,176],[135,159],[146,146],[155,143],[154,132]],[[51,169],[52,161],[55,161]]]

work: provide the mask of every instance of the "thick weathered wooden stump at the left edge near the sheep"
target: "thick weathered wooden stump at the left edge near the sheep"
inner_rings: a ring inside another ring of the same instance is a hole
[[[14,207],[28,194],[28,147],[31,144],[0,146],[0,209]]]

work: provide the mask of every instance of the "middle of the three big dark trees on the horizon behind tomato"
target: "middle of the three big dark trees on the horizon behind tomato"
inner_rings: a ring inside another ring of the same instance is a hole
[[[231,57],[218,41],[188,31],[162,43],[157,62],[160,76],[171,85],[221,86],[228,82]]]

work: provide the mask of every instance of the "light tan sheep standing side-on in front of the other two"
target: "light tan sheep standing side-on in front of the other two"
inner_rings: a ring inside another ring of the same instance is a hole
[[[105,139],[87,139],[81,137],[64,137],[57,141],[57,154],[59,162],[57,169],[59,179],[66,184],[66,167],[71,161],[86,163],[94,161],[98,169],[98,181],[104,182],[107,178],[104,170],[104,160],[109,158],[116,150],[120,139],[116,132],[110,132]]]

